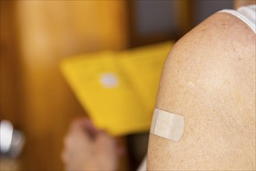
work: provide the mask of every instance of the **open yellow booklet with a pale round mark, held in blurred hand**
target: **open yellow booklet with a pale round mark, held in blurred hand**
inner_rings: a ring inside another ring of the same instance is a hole
[[[149,131],[172,44],[81,54],[62,61],[61,71],[96,127],[113,136]]]

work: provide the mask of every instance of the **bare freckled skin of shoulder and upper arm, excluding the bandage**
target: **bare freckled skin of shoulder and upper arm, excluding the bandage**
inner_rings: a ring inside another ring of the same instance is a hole
[[[177,42],[156,108],[184,116],[184,134],[149,137],[147,169],[255,169],[255,34],[216,13]]]

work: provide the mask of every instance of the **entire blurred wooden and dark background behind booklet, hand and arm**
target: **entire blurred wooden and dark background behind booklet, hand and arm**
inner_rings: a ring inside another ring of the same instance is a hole
[[[0,120],[10,120],[26,141],[15,159],[2,158],[1,169],[63,169],[68,125],[86,113],[59,71],[62,58],[175,41],[212,13],[232,8],[231,0],[2,0]],[[121,137],[128,148],[121,170],[139,165],[147,138]]]

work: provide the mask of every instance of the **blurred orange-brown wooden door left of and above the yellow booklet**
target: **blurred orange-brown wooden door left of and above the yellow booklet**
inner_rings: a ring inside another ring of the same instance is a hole
[[[125,4],[1,1],[1,17],[2,118],[9,116],[25,133],[22,169],[61,170],[68,124],[85,112],[62,78],[59,62],[127,47]]]

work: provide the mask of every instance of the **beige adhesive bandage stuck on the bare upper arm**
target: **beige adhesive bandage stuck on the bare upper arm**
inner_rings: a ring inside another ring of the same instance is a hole
[[[179,141],[183,132],[183,116],[159,109],[154,110],[150,133],[172,141]]]

